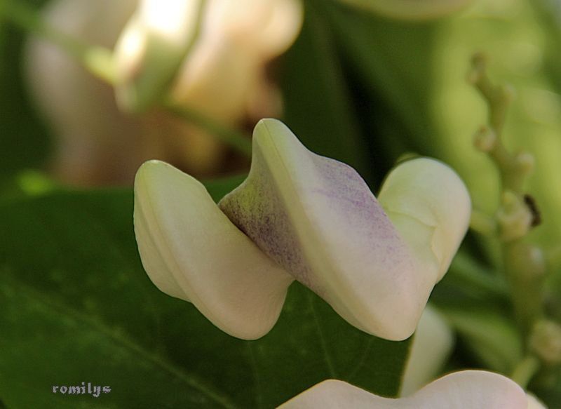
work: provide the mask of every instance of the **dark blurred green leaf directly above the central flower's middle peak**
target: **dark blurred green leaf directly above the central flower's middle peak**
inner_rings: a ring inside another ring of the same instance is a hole
[[[348,163],[370,180],[358,118],[322,7],[306,1],[305,20],[285,56],[284,121],[312,152]]]

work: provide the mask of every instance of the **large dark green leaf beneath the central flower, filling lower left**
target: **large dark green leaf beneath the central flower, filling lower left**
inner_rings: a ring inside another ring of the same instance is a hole
[[[208,187],[219,199],[238,181]],[[253,342],[161,293],[142,270],[132,214],[128,189],[0,205],[8,408],[272,408],[331,377],[397,393],[408,342],[356,330],[299,284],[271,333]],[[53,393],[81,382],[111,392]]]

